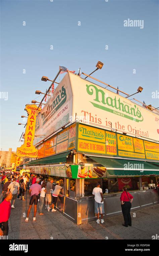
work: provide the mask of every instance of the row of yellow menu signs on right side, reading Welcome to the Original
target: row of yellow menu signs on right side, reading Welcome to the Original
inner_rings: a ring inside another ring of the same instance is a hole
[[[159,144],[78,124],[77,152],[159,161]]]

